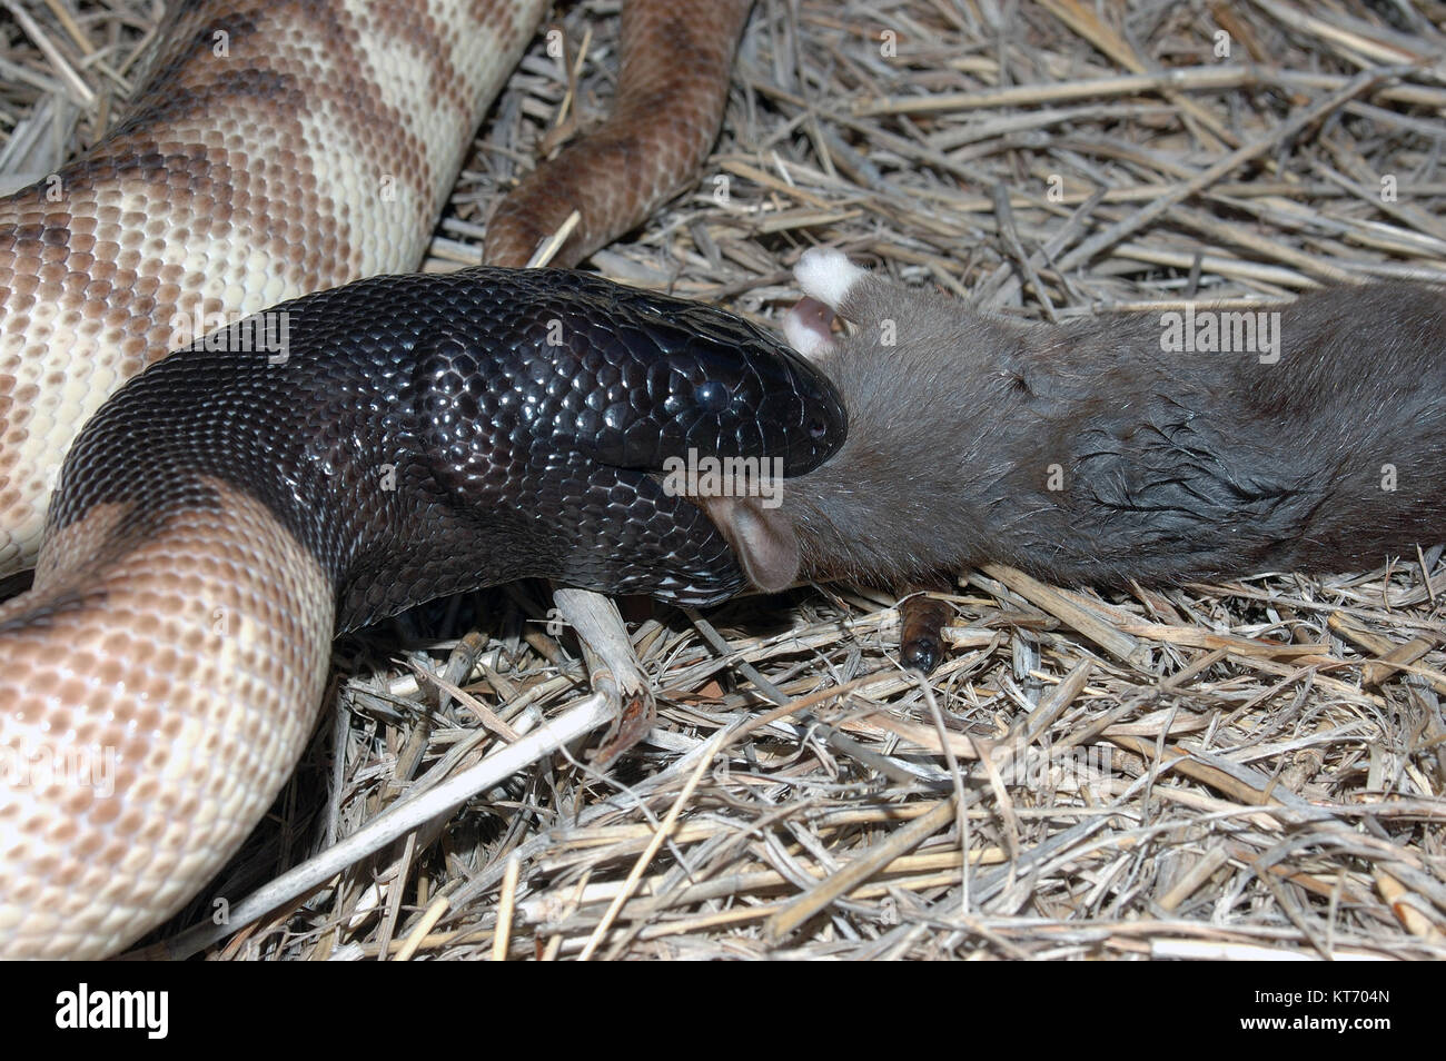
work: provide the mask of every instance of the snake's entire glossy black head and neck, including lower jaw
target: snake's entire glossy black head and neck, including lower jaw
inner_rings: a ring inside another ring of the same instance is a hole
[[[260,318],[107,402],[52,525],[126,502],[119,533],[153,533],[223,480],[320,561],[340,629],[523,577],[709,604],[743,575],[664,461],[798,476],[844,439],[833,386],[765,332],[587,273],[375,278]]]

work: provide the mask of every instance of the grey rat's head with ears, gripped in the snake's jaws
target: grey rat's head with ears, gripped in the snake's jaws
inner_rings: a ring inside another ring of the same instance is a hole
[[[995,473],[1008,379],[982,351],[1018,348],[1021,331],[931,291],[907,288],[813,249],[795,267],[805,298],[784,332],[827,373],[849,437],[814,471],[787,478],[777,503],[706,497],[713,522],[761,590],[800,574],[894,583],[953,564],[979,528],[973,497]],[[850,328],[834,332],[834,315]],[[998,444],[992,444],[998,448]]]

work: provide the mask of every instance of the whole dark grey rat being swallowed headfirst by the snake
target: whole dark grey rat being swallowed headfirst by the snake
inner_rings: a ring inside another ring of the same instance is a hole
[[[1031,324],[837,250],[795,276],[784,331],[847,439],[774,499],[697,499],[761,590],[989,561],[1102,588],[1345,572],[1446,538],[1443,288]]]

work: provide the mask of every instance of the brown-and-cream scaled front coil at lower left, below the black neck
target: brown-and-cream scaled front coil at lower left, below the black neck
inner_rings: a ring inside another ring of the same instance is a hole
[[[0,609],[4,957],[103,957],[174,914],[311,733],[334,590],[263,504],[207,486],[218,504],[119,549],[124,513],[97,507]]]

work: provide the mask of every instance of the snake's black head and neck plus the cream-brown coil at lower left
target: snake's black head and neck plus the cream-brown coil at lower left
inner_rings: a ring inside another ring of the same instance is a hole
[[[334,627],[526,575],[716,601],[742,572],[661,461],[801,474],[843,441],[831,385],[752,325],[593,276],[268,312],[285,330],[233,325],[103,406],[0,609],[0,746],[71,756],[0,809],[7,954],[104,953],[187,899],[289,773]]]

